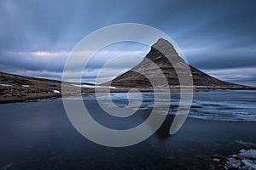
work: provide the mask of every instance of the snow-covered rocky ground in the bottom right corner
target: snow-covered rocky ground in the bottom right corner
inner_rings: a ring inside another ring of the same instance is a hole
[[[225,169],[256,169],[256,150],[240,150],[237,155],[227,157]]]

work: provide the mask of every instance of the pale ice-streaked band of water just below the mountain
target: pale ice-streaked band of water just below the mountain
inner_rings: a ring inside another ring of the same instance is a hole
[[[151,110],[155,104],[168,106],[169,95],[160,94],[160,98],[155,99],[154,93],[143,93],[143,102],[138,103],[136,100],[140,95],[134,93],[129,96],[131,101],[135,101],[131,102],[130,108],[140,107],[140,110]],[[113,93],[111,97],[119,107],[125,107],[128,104],[126,93]],[[109,105],[107,94],[100,94],[99,98],[105,105]],[[84,100],[95,99],[94,94],[84,96]],[[177,105],[179,105],[179,94],[172,93],[169,114],[176,114]],[[256,122],[256,90],[195,92],[189,117],[215,121]]]

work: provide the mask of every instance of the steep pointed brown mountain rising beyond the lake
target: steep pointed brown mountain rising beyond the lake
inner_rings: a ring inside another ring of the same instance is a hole
[[[169,60],[172,60],[172,63]],[[153,61],[155,65],[150,61]],[[156,65],[164,73],[170,88],[180,85],[177,71],[179,71],[178,74],[181,75],[183,79],[192,77],[195,88],[249,88],[247,86],[218,80],[217,78],[211,77],[195,67],[188,65],[177,54],[173,45],[163,38],[160,38],[154,43],[141,63],[133,67],[131,71],[127,71],[119,77],[114,78],[112,82],[107,82],[107,84],[111,83],[111,86],[113,87],[125,88],[152,87],[148,78],[144,76],[146,75],[147,77],[153,77],[155,79],[154,85],[161,86],[164,80],[160,78],[160,72],[156,71]],[[175,65],[175,68],[173,65]],[[190,68],[190,75],[188,75],[187,71],[184,71],[185,68]]]

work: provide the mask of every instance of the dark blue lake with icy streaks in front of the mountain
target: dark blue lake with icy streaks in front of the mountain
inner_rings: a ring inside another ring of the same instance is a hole
[[[125,107],[126,96],[112,94],[112,99],[116,105]],[[131,94],[131,101],[137,101],[138,96]],[[161,94],[155,99],[157,106],[166,105],[166,96]],[[100,98],[106,99],[106,94]],[[166,119],[171,117],[171,123],[178,98],[179,94],[172,94],[173,107]],[[131,105],[141,109],[125,118],[104,114],[93,94],[84,96],[84,103],[91,116],[103,126],[126,129],[147,118],[153,99],[154,94],[143,94],[142,105],[137,102]],[[108,100],[105,102],[108,104]],[[175,135],[168,133],[170,124],[165,122],[142,143],[111,148],[95,144],[77,132],[67,118],[61,99],[3,104],[0,105],[0,169],[212,169],[212,155],[229,156],[242,149],[256,149],[255,118],[247,116],[255,115],[254,105],[254,91],[195,93],[189,113],[195,118],[188,118]],[[204,115],[198,116],[199,112]],[[226,122],[227,118],[234,122]],[[242,122],[237,122],[241,119]]]

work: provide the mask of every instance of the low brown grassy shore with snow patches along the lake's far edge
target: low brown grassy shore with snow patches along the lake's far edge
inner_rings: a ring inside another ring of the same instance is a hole
[[[131,87],[117,86],[113,88],[106,88],[99,84],[100,88],[96,88],[100,93],[127,93]],[[84,86],[84,87],[83,87]],[[57,80],[49,80],[44,78],[35,77],[22,77],[18,75],[8,74],[0,72],[0,104],[14,103],[14,102],[30,102],[40,99],[55,99],[62,96],[72,94],[91,94],[95,93],[95,84],[92,83],[76,83],[76,82],[61,82]],[[256,87],[249,87],[246,85],[238,85],[230,83],[229,86],[193,86],[193,87],[155,87],[145,88],[141,85],[137,85],[137,90],[143,93],[148,92],[166,92],[170,90],[172,93],[177,93],[182,88],[184,91],[214,91],[214,90],[256,90]],[[87,87],[87,88],[86,88]],[[88,88],[90,87],[90,88]],[[61,94],[61,89],[64,88],[66,94]]]

